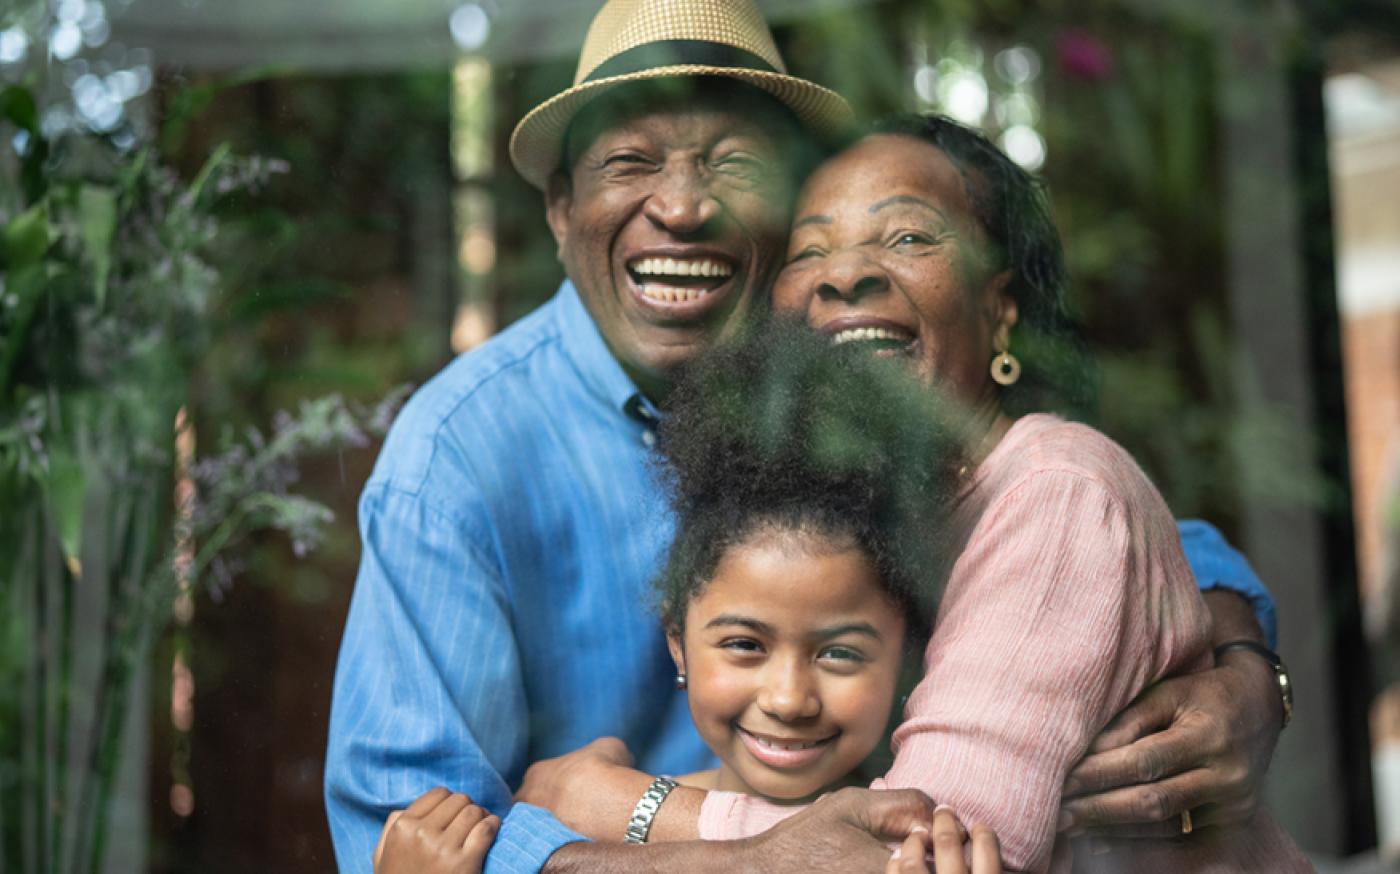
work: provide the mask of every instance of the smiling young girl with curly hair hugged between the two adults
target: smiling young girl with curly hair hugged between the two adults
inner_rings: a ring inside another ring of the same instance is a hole
[[[928,639],[956,434],[902,370],[773,324],[692,368],[659,445],[678,522],[661,613],[720,759],[679,783],[780,803],[868,783]],[[434,790],[389,819],[377,870],[479,871],[496,822]],[[892,870],[923,870],[924,840]],[[1000,870],[994,840],[979,832],[976,871]]]

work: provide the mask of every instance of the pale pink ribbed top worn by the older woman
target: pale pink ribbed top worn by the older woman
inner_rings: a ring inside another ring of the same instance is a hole
[[[875,789],[917,787],[986,822],[1018,871],[1308,871],[1267,815],[1219,840],[1088,856],[1057,840],[1060,786],[1149,684],[1210,667],[1210,615],[1172,515],[1117,444],[1054,416],[1016,422],[955,510],[955,563],[924,679]],[[710,793],[700,835],[755,835],[795,812]]]

